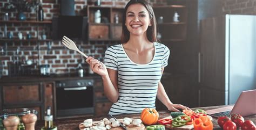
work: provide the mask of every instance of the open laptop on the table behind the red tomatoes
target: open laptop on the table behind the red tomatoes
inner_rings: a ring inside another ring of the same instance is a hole
[[[230,114],[240,114],[242,117],[256,114],[256,89],[242,91],[234,105],[207,110],[206,112],[215,118]]]

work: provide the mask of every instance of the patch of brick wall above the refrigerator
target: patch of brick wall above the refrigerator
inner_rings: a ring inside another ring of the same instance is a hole
[[[256,15],[256,0],[224,0],[224,13]]]

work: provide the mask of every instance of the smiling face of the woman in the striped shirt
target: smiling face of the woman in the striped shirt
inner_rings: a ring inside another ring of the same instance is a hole
[[[132,4],[126,11],[125,25],[130,34],[146,35],[147,27],[151,26],[149,12],[142,4]]]

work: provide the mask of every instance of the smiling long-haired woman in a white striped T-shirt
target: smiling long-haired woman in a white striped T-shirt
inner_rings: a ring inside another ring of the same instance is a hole
[[[149,3],[128,2],[122,29],[122,44],[107,48],[105,64],[93,57],[86,59],[92,71],[102,76],[105,95],[113,103],[109,114],[155,109],[156,98],[170,111],[189,109],[172,104],[160,82],[170,50],[157,42],[156,18]]]

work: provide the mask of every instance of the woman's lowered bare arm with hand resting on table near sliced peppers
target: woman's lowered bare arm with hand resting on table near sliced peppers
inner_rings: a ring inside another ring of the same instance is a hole
[[[164,68],[162,68],[162,74],[164,72]],[[181,104],[173,104],[169,97],[167,96],[164,86],[161,82],[158,83],[158,90],[157,90],[157,98],[167,107],[169,111],[176,111],[178,112],[178,109],[188,109],[188,107],[181,105]]]

